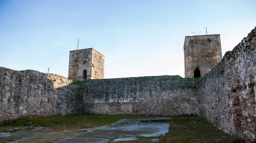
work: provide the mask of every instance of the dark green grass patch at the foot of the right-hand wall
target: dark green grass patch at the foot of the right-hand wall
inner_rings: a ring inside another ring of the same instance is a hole
[[[245,143],[199,116],[175,116],[160,143]]]

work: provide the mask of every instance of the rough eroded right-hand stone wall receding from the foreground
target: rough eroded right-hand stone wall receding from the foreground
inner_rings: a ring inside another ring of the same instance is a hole
[[[256,27],[201,80],[197,114],[256,142]]]

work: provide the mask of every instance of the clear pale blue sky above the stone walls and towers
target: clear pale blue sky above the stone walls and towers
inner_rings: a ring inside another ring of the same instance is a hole
[[[105,56],[105,78],[184,77],[185,36],[220,34],[222,55],[256,26],[256,0],[0,0],[0,67],[67,77],[69,51]]]

